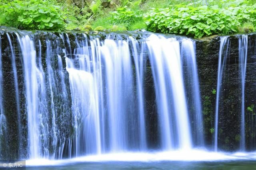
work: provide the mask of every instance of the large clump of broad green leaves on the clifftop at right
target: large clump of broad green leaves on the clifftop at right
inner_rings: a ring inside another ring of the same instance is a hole
[[[238,32],[246,21],[255,23],[256,4],[247,1],[220,8],[214,6],[172,5],[169,8],[153,8],[146,15],[148,31],[177,33],[201,38],[204,35]]]

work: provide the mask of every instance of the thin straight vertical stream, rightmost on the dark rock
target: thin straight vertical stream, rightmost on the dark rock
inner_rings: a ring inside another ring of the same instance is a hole
[[[242,83],[242,101],[241,101],[241,139],[240,139],[240,150],[245,150],[245,123],[244,123],[244,88],[246,78],[246,60],[247,60],[247,45],[248,35],[242,35],[239,39],[239,68],[241,71],[241,83]]]

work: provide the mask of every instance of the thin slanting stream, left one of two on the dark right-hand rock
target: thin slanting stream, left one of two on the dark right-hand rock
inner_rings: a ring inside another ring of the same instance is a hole
[[[218,75],[217,75],[217,89],[216,89],[216,107],[215,107],[215,125],[214,125],[214,150],[218,150],[218,114],[219,102],[222,90],[222,76],[225,71],[226,59],[228,55],[229,39],[227,36],[220,37],[220,50],[218,58]]]

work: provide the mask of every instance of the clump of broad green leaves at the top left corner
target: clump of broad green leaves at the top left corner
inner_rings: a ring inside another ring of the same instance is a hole
[[[46,0],[1,3],[0,12],[4,18],[2,25],[20,29],[63,30],[66,26],[60,7]]]

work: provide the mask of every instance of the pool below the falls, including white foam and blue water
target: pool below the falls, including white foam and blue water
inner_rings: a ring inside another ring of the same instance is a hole
[[[179,150],[172,152],[126,152],[81,156],[71,159],[27,160],[26,169],[38,170],[208,170],[256,169],[256,152],[207,152]]]

